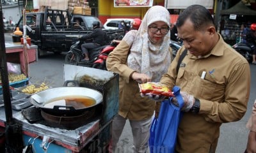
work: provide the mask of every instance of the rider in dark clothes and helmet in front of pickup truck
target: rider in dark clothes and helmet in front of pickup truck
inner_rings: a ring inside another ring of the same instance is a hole
[[[93,27],[92,33],[79,37],[84,40],[92,39],[92,43],[84,43],[83,45],[81,45],[81,48],[84,54],[84,59],[82,59],[81,62],[88,62],[90,60],[89,58],[90,49],[100,47],[105,43],[106,33],[102,31],[102,29],[100,28],[100,22],[93,21],[92,27]]]

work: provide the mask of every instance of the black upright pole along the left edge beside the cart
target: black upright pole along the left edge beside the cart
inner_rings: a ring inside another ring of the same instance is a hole
[[[6,49],[4,40],[3,9],[0,8],[0,73],[3,84],[5,122],[5,152],[21,153],[23,150],[22,127],[12,116],[11,94],[9,89],[8,69],[6,63]]]

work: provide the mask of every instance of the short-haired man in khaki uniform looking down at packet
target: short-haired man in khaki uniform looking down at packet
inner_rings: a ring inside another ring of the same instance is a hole
[[[221,123],[240,120],[246,112],[250,66],[216,33],[211,13],[204,6],[189,6],[176,25],[184,47],[160,81],[170,89],[179,86],[184,99],[176,151],[215,152]],[[176,73],[185,48],[188,54]]]

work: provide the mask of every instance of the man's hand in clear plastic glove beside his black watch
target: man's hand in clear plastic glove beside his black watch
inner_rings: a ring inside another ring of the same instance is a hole
[[[180,95],[182,96],[182,99],[184,101],[184,105],[181,108],[181,110],[184,112],[189,112],[189,110],[192,108],[192,106],[195,103],[194,96],[191,94],[188,94],[187,92],[180,92]],[[173,97],[172,103],[176,106],[179,106],[179,103],[175,97]]]

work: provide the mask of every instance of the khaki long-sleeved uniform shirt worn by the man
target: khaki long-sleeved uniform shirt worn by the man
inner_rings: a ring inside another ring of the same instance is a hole
[[[221,123],[237,121],[246,112],[250,66],[221,36],[211,53],[204,57],[197,58],[188,52],[177,75],[180,54],[178,52],[161,83],[170,89],[177,85],[180,91],[200,99],[200,112],[184,113],[179,124],[176,150],[186,153],[215,152]],[[204,79],[201,78],[203,71],[206,72]]]

